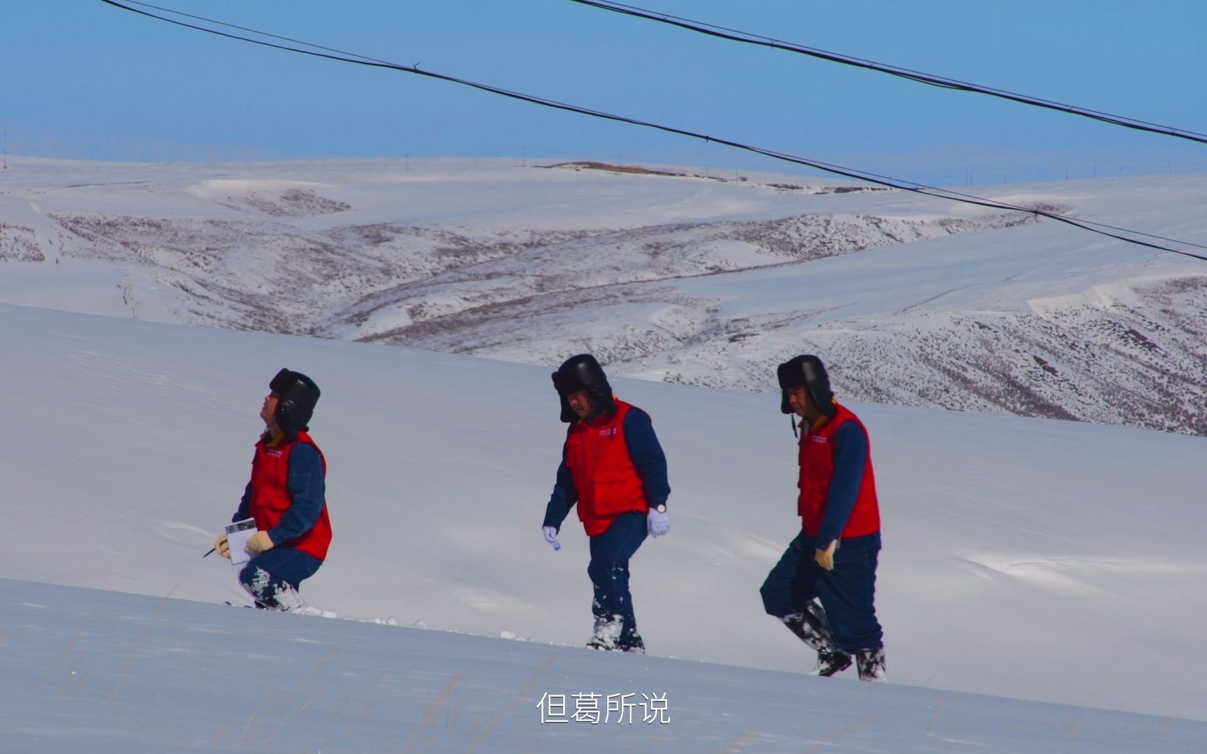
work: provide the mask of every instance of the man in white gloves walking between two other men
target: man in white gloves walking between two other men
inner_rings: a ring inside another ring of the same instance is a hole
[[[570,509],[590,538],[595,598],[593,649],[645,654],[629,592],[629,559],[646,536],[670,531],[666,456],[649,415],[612,394],[594,356],[568,358],[553,373],[561,421],[570,425],[558,480],[546,507],[544,540],[560,550],[558,532]]]

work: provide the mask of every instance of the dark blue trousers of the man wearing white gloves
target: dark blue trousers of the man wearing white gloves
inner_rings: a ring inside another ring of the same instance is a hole
[[[596,624],[620,621],[622,648],[641,644],[629,594],[629,559],[648,533],[646,514],[632,512],[617,516],[606,532],[591,537],[591,562],[587,566],[595,586],[591,613]]]

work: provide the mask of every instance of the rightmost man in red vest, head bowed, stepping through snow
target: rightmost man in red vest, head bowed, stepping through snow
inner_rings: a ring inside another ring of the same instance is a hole
[[[868,431],[834,399],[816,356],[780,364],[777,376],[780,409],[800,417],[801,532],[768,574],[763,606],[817,651],[815,674],[839,673],[853,655],[861,680],[884,680],[874,604],[880,507]]]

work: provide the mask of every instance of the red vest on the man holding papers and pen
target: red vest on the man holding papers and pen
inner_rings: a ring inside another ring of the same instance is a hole
[[[285,512],[293,504],[290,493],[290,455],[299,443],[305,443],[315,450],[319,446],[305,432],[298,432],[298,439],[284,445],[268,445],[264,440],[256,443],[256,457],[251,462],[251,518],[256,519],[256,528],[267,532],[281,522]],[[327,473],[327,458],[319,450],[322,461],[322,473]],[[276,542],[326,560],[331,546],[331,519],[327,516],[327,501],[322,503],[322,513],[314,528],[288,542]]]

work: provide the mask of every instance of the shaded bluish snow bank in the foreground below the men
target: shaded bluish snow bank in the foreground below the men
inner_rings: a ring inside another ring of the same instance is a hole
[[[0,579],[0,601],[5,752],[1101,754],[1207,742],[1207,723],[162,597]],[[599,717],[575,694],[599,695]],[[566,705],[546,720],[566,721],[541,723],[546,695]]]

